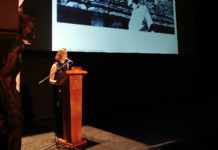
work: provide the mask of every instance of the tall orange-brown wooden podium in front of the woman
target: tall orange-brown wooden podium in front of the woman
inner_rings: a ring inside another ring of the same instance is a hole
[[[59,143],[77,147],[87,143],[82,139],[82,81],[87,71],[72,67],[62,81],[63,139]]]

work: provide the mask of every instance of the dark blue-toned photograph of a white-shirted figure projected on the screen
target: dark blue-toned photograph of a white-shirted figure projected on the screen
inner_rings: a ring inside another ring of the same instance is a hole
[[[57,21],[175,33],[173,0],[57,0]]]

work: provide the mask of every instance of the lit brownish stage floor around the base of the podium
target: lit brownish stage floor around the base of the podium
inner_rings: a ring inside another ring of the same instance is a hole
[[[148,150],[148,145],[104,131],[92,126],[83,126],[83,138],[87,144],[79,149],[84,150]],[[47,132],[22,138],[21,150],[56,150],[69,148],[56,145],[55,133]]]

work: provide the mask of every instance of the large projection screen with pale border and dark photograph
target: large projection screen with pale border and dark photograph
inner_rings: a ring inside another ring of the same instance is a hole
[[[52,50],[178,54],[175,0],[52,0]]]

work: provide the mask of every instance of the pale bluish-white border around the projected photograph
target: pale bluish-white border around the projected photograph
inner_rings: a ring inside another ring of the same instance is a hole
[[[58,22],[52,0],[52,51],[178,54],[175,0],[173,18],[173,34]]]

